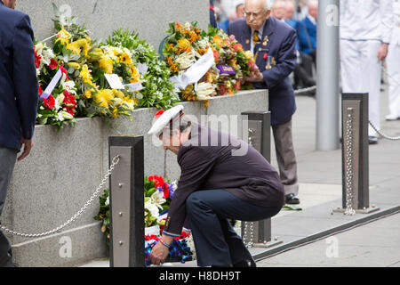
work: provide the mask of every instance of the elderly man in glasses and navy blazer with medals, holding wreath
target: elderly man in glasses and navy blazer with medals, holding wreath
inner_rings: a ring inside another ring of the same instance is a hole
[[[289,75],[296,65],[296,31],[270,16],[268,0],[246,0],[245,19],[232,22],[234,35],[245,50],[255,55],[258,69],[246,81],[269,90],[269,110],[276,145],[276,159],[287,204],[299,204],[297,163],[292,143],[292,115],[296,103]]]

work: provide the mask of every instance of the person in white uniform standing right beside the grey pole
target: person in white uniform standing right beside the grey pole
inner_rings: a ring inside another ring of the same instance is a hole
[[[393,0],[340,0],[340,69],[343,93],[369,94],[369,119],[380,130],[381,61],[394,26]],[[369,126],[371,144],[378,134]]]

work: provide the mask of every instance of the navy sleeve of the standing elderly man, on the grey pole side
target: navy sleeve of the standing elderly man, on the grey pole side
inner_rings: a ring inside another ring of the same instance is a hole
[[[264,82],[270,89],[288,77],[296,66],[296,32],[291,28],[285,37],[276,58],[276,66],[262,72]]]

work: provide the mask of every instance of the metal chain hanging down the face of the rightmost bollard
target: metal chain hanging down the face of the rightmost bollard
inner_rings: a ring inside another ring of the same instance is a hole
[[[353,216],[356,211],[353,209],[353,108],[348,108],[348,119],[346,121],[346,209],[344,215]]]

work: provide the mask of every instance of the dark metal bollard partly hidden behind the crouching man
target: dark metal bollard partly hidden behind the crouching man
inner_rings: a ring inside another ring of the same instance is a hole
[[[268,161],[271,160],[271,113],[267,111],[243,112],[245,119],[243,127],[248,127],[248,141]],[[245,138],[244,138],[245,139]],[[250,227],[250,229],[249,229]],[[250,232],[249,232],[250,231]],[[249,234],[250,233],[250,234]],[[274,240],[274,245],[268,244],[271,241],[271,219],[259,222],[242,222],[242,236],[244,243],[249,248],[252,246],[271,247],[282,241]]]

